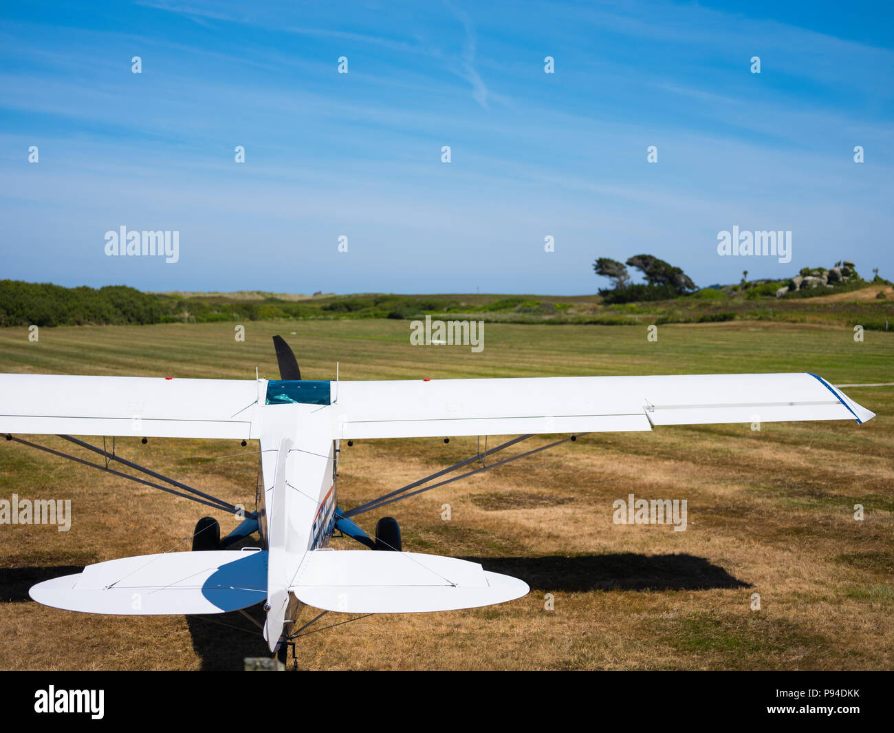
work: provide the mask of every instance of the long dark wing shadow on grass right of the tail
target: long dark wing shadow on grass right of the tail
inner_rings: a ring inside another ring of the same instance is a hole
[[[565,558],[463,558],[485,570],[513,575],[542,591],[707,591],[750,588],[726,570],[694,555],[633,552]]]

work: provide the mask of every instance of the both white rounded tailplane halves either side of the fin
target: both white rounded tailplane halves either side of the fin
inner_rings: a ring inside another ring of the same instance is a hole
[[[266,550],[208,550],[108,560],[38,583],[38,603],[83,613],[226,613],[267,599]],[[424,613],[489,606],[528,592],[478,563],[415,552],[311,550],[288,590],[318,609]]]

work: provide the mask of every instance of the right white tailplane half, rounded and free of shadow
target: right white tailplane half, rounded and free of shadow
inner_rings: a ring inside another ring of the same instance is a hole
[[[513,601],[529,588],[478,563],[416,552],[312,550],[291,585],[299,601],[344,613],[423,613]]]

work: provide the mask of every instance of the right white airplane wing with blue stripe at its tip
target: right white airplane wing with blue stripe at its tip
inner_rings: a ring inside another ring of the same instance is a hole
[[[333,390],[340,439],[874,417],[807,373],[342,381]]]

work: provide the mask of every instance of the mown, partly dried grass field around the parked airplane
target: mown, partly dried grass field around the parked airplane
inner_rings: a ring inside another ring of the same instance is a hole
[[[839,385],[894,381],[894,332],[867,330],[861,343],[850,328],[771,321],[664,325],[656,342],[645,325],[489,322],[481,354],[411,346],[405,320],[254,321],[244,343],[223,322],[41,328],[37,343],[27,328],[3,328],[0,371],[250,379],[257,366],[274,378],[276,333],[305,379],[333,379],[337,361],[342,379],[812,371]],[[891,669],[894,388],[845,391],[877,417],[590,435],[389,507],[405,550],[477,558],[531,592],[308,635],[299,669]],[[473,454],[476,439],[342,448],[340,503],[351,507]],[[122,456],[247,506],[256,449],[117,443]],[[97,617],[28,597],[31,584],[87,563],[188,548],[205,507],[2,441],[0,499],[13,493],[71,499],[73,518],[67,533],[0,525],[0,669],[241,669],[265,653],[237,614]],[[687,499],[687,530],[613,524],[612,502],[629,493]],[[224,531],[236,524],[219,518]],[[360,524],[372,531],[376,518]]]

